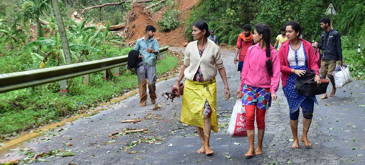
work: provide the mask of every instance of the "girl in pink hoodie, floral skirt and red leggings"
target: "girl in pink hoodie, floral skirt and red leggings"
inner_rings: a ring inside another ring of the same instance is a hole
[[[235,95],[242,97],[246,109],[246,129],[250,148],[245,156],[261,155],[262,140],[265,133],[265,113],[271,99],[276,100],[275,92],[280,81],[280,60],[275,48],[270,44],[270,28],[266,24],[256,24],[253,40],[255,45],[247,50],[241,73],[241,87]],[[271,95],[271,97],[270,97]],[[257,146],[255,139],[255,113],[257,123]]]

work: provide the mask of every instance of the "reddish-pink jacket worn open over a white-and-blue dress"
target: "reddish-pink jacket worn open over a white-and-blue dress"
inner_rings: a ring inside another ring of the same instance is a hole
[[[315,73],[319,75],[318,58],[315,55],[312,44],[304,39],[300,39],[303,42],[304,50],[307,54],[308,70],[315,70]],[[280,71],[281,71],[281,85],[285,87],[287,85],[288,75],[292,74],[292,68],[289,68],[288,63],[289,41],[281,43],[279,49],[280,58]]]

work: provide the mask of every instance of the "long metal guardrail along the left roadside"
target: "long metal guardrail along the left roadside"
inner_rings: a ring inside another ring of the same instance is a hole
[[[169,51],[169,46],[161,47],[160,56]],[[127,64],[128,55],[69,64],[38,70],[22,71],[0,75],[0,93],[33,87],[46,83],[70,79]]]

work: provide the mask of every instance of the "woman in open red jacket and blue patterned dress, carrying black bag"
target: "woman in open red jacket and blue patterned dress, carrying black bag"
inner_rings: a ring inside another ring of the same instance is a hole
[[[302,28],[296,21],[289,21],[286,25],[288,41],[283,43],[279,49],[281,81],[284,95],[288,100],[290,110],[290,127],[293,133],[292,148],[299,148],[298,139],[298,117],[299,107],[303,112],[303,135],[301,141],[304,145],[311,146],[307,134],[313,117],[314,103],[318,105],[315,96],[297,94],[294,85],[297,76],[304,75],[306,71],[315,70],[314,80],[320,84],[317,58],[312,44],[299,36]]]

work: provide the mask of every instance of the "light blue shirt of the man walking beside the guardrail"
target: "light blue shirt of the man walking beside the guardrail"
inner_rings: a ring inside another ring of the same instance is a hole
[[[155,54],[147,53],[146,48],[151,48],[153,51],[157,51],[157,54],[160,53],[160,46],[158,46],[158,42],[155,38],[150,38],[150,40],[145,40],[145,36],[138,39],[134,50],[141,52],[142,58],[142,65],[146,66],[155,66],[156,65],[156,58]]]

